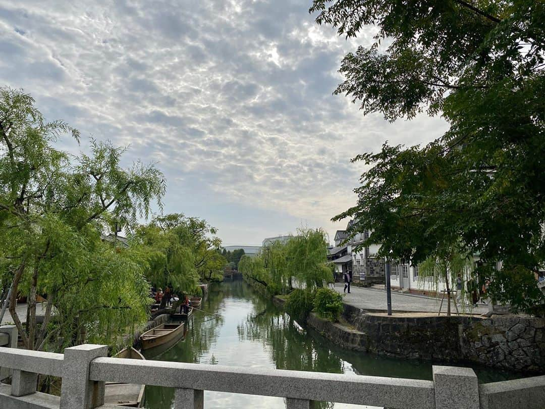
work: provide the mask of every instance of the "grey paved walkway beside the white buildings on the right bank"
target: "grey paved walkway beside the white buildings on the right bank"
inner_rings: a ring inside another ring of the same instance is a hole
[[[337,292],[343,294],[343,288],[344,283],[335,283],[335,290]],[[386,291],[374,288],[351,287],[350,294],[346,294],[344,297],[344,302],[364,310],[387,310]],[[415,296],[414,294],[403,294],[392,291],[392,311],[427,312],[437,315],[440,304],[440,298]],[[462,307],[458,307],[458,310],[461,313],[465,312],[465,314],[481,315],[488,312],[488,306],[479,305],[471,311],[465,306],[465,311],[462,310]],[[451,312],[452,314],[456,314],[453,302],[451,302]],[[441,315],[443,314],[446,315],[446,299],[443,303],[443,309],[441,309]]]

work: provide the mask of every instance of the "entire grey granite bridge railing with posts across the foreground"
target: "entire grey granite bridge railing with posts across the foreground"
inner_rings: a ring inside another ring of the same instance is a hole
[[[11,386],[0,387],[0,407],[107,408],[106,381],[173,387],[175,409],[202,409],[204,390],[279,396],[286,398],[287,409],[308,409],[312,401],[399,409],[537,409],[545,401],[545,376],[479,386],[473,370],[451,366],[433,366],[433,381],[420,381],[107,358],[106,353],[101,345],[66,348],[64,354],[0,347],[0,366],[13,370]],[[60,398],[35,392],[37,373],[63,378]]]

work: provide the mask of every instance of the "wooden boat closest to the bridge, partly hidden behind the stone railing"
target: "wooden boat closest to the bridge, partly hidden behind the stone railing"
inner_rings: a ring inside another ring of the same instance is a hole
[[[135,348],[125,348],[114,358],[146,359]],[[135,383],[106,382],[104,403],[113,406],[142,407],[146,385]]]

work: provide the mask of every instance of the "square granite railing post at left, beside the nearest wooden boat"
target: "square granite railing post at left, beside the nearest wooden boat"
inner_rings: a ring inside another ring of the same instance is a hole
[[[92,409],[104,405],[104,382],[89,380],[93,359],[106,357],[105,345],[85,344],[64,350],[60,409]]]

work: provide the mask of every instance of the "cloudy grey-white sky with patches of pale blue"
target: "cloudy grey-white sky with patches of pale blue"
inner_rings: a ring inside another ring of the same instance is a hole
[[[225,245],[343,224],[364,169],[349,159],[422,143],[440,118],[389,124],[332,96],[341,58],[371,43],[314,24],[311,0],[3,0],[0,85],[48,119],[158,162],[165,212],[207,219]]]

